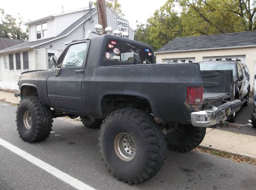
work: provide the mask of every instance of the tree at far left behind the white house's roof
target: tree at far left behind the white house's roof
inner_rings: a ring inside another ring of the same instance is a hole
[[[0,37],[12,38],[12,39],[28,39],[28,32],[23,32],[21,25],[23,23],[20,14],[18,18],[12,17],[10,14],[5,14],[3,9],[0,9],[2,14],[0,24]]]

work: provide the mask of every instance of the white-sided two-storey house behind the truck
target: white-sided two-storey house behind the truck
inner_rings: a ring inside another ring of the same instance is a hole
[[[106,6],[108,26],[117,29],[119,16]],[[28,70],[50,69],[50,57],[60,56],[64,43],[84,39],[88,30],[98,24],[97,7],[53,14],[26,23],[29,40],[0,50],[0,88],[18,90],[18,77]],[[134,39],[134,31],[128,29],[129,38]]]

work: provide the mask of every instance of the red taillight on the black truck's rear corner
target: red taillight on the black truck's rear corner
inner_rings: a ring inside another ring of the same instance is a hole
[[[202,104],[203,103],[204,87],[187,87],[187,103]]]

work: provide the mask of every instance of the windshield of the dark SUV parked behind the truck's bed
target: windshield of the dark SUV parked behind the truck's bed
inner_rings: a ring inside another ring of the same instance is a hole
[[[233,76],[236,78],[236,65],[234,63],[199,63],[201,71],[212,71],[212,70],[232,70]]]

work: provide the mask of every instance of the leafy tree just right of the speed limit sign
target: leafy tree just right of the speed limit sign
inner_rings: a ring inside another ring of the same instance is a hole
[[[159,49],[175,37],[182,36],[182,24],[178,12],[174,10],[174,0],[167,2],[147,20],[147,24],[138,24],[134,39]]]

